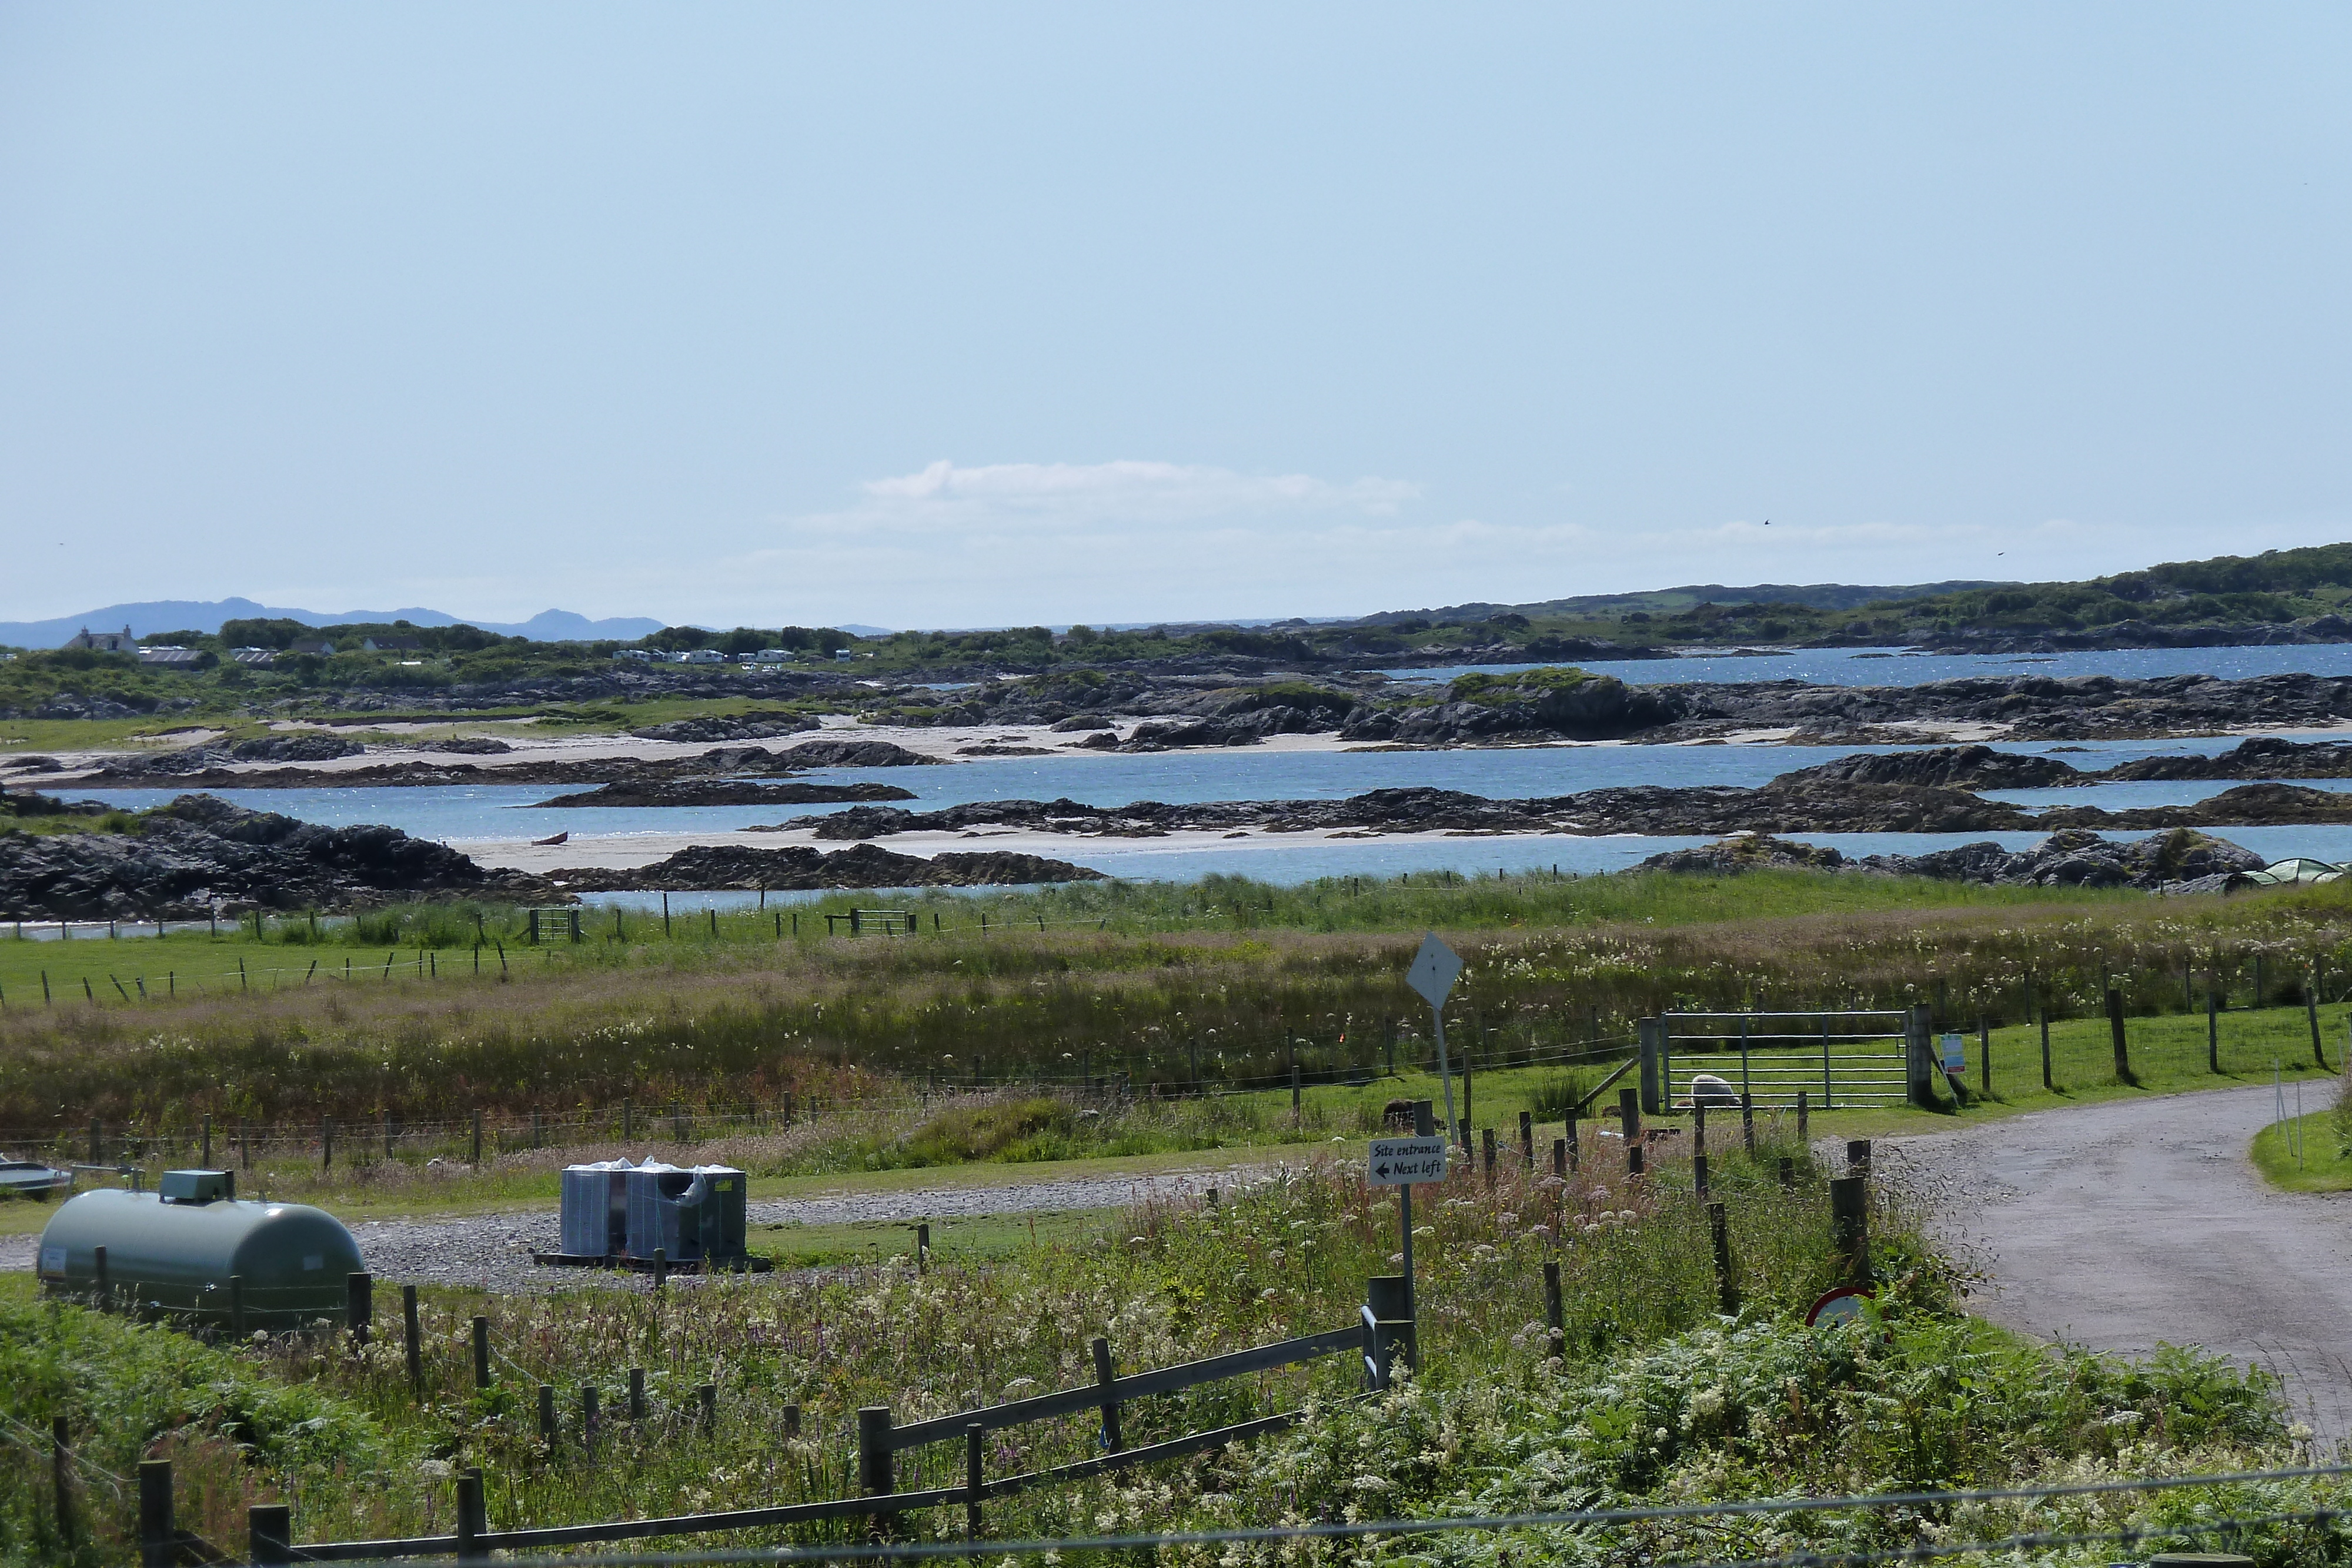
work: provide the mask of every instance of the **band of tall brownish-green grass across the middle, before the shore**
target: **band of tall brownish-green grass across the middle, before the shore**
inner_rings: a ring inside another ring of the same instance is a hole
[[[1609,879],[1606,896],[1656,886],[1649,907],[1668,917],[1545,924],[1538,893],[1576,898],[1597,882],[1541,884],[1510,922],[1446,926],[1470,961],[1449,1004],[1458,1051],[1489,1065],[1557,1060],[1621,1041],[1635,1018],[1672,1006],[1926,1001],[1964,1027],[1978,1016],[2020,1020],[2027,999],[2060,1018],[2096,1016],[2110,985],[2147,1016],[2201,1006],[2211,985],[2232,1004],[2256,1001],[2258,976],[2270,1001],[2300,997],[2305,976],[2326,994],[2352,980],[2343,886],[1755,917],[1738,910],[1771,907],[1776,891],[1846,898],[1853,884],[1893,896],[1900,884],[1630,877]],[[1068,893],[1082,896],[1117,893]],[[1675,910],[1703,900],[1729,914],[1675,924]],[[31,943],[0,943],[0,959],[21,964],[16,947]],[[1430,1060],[1428,1013],[1404,987],[1411,947],[1409,933],[1301,929],[776,943],[729,940],[722,919],[720,940],[567,945],[480,980],[470,964],[456,976],[445,964],[440,980],[386,971],[367,985],[301,985],[296,971],[278,992],[191,999],[183,987],[174,1004],[42,1009],[16,1001],[19,978],[0,1016],[0,1126],[200,1112],[423,1121],[623,1098],[724,1107],[840,1074],[1275,1084],[1296,1060],[1310,1081],[1336,1079],[1385,1067],[1390,1051],[1399,1065]]]

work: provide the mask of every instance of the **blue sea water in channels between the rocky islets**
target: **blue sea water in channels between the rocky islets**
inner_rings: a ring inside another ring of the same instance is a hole
[[[1623,661],[1585,665],[1637,684],[1689,679],[1804,679],[1818,684],[1922,684],[1980,675],[2251,675],[2314,672],[2352,675],[2352,644],[2267,646],[2267,649],[2124,649],[2105,654],[2053,656],[1915,656],[1879,649],[1804,649],[1788,656],[1700,656],[1670,661]],[[1397,679],[1451,679],[1465,670],[1510,672],[1524,665],[1461,665],[1451,670],[1395,670]],[[2093,743],[2004,743],[1997,750],[2063,755],[2084,771],[2157,755],[2213,755],[2237,745],[2237,738],[2201,741],[2093,741]],[[1752,788],[1778,773],[1844,757],[1853,750],[1891,748],[1802,748],[1802,745],[1571,745],[1517,750],[1435,750],[1435,752],[1289,752],[1275,748],[1185,750],[1145,757],[1070,752],[1054,757],[988,757],[950,766],[915,769],[830,769],[811,780],[851,783],[887,780],[915,792],[913,811],[990,799],[1075,799],[1091,806],[1122,806],[1138,799],[1197,804],[1216,799],[1338,799],[1364,790],[1437,788],[1522,799],[1571,795],[1611,785],[1740,785]],[[795,816],[816,816],[840,806],[687,806],[687,809],[541,809],[536,802],[576,785],[456,785],[428,790],[219,790],[242,806],[282,811],[310,823],[353,825],[390,823],[416,837],[442,839],[459,849],[485,842],[543,839],[572,832],[576,839],[612,839],[630,835],[731,832],[750,825],[774,825]],[[2230,788],[2227,783],[2126,783],[2072,790],[2013,790],[1992,799],[2023,806],[2098,804],[2110,809],[2190,804]],[[2352,780],[2317,780],[2317,788],[2343,790]],[[68,795],[73,790],[68,788]],[[162,804],[176,790],[108,790],[106,799],[127,809]],[[1804,835],[1835,844],[1846,853],[1922,853],[1943,844],[1966,842],[1950,835]],[[1976,835],[1980,837],[1980,835]],[[2020,849],[2034,835],[1994,835]],[[2293,853],[2321,860],[2352,858],[2352,827],[2232,827],[2230,839],[2272,858]],[[1345,839],[1284,842],[1282,835],[1251,832],[1247,839],[1216,846],[1167,849],[1155,839],[1070,839],[1065,856],[1120,877],[1190,879],[1211,872],[1242,872],[1275,882],[1308,882],[1338,875],[1397,872],[1524,872],[1557,865],[1562,872],[1604,872],[1635,865],[1665,849],[1696,844],[1677,837],[1512,837],[1512,839]],[[637,896],[614,896],[637,898]],[[717,896],[729,898],[729,896]],[[753,898],[753,896],[746,896]]]

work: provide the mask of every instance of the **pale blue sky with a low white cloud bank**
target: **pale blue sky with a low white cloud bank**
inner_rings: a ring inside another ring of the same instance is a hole
[[[2352,538],[2347,45],[0,0],[0,618],[1284,616]]]

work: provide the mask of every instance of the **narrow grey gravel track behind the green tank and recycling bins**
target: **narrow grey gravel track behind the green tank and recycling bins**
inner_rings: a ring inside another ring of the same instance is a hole
[[[1216,1166],[1155,1175],[1096,1175],[1007,1187],[922,1187],[906,1192],[844,1192],[837,1197],[769,1199],[750,1204],[757,1225],[842,1225],[851,1220],[943,1220],[978,1213],[1044,1213],[1127,1208],[1145,1199],[1232,1190],[1261,1166]],[[555,1291],[576,1284],[649,1288],[640,1274],[562,1269],[532,1262],[557,1251],[555,1211],[461,1215],[449,1220],[360,1220],[350,1227],[360,1258],[379,1281],[487,1286],[492,1291]],[[0,1237],[0,1269],[31,1269],[35,1237]],[[753,1239],[757,1246],[757,1237]],[[689,1281],[691,1284],[691,1281]]]

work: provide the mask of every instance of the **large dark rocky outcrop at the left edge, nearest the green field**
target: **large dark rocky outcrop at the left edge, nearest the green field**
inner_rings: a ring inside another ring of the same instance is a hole
[[[536,898],[536,877],[494,872],[397,827],[320,827],[181,795],[141,832],[0,835],[0,914],[193,919],[221,910],[353,910],[419,893]]]

